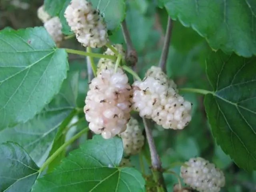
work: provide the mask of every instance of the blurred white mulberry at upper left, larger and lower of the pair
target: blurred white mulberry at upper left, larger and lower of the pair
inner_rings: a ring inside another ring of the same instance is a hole
[[[62,24],[60,23],[60,19],[58,17],[51,18],[44,23],[44,28],[46,28],[56,45],[59,46],[63,39]]]

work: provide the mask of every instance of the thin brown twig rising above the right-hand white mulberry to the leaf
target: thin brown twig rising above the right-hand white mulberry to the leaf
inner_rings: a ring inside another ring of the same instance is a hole
[[[165,38],[164,38],[164,48],[162,50],[161,58],[159,61],[159,67],[162,69],[162,71],[164,73],[166,73],[166,60],[167,60],[168,53],[169,53],[169,45],[170,45],[171,35],[172,35],[172,19],[170,18],[170,16],[168,16],[166,34],[165,34]]]

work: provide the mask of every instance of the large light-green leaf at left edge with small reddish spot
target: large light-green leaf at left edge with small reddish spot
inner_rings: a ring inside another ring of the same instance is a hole
[[[60,90],[67,54],[43,27],[0,31],[0,130],[33,118]]]

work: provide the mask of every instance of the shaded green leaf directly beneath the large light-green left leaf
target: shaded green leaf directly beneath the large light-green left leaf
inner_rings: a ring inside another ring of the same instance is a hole
[[[62,121],[76,107],[78,73],[69,72],[60,92],[32,120],[0,131],[0,142],[19,143],[38,164],[47,158],[52,141]],[[74,116],[74,113],[71,114]],[[68,122],[67,122],[68,123]],[[63,131],[63,130],[62,130]]]

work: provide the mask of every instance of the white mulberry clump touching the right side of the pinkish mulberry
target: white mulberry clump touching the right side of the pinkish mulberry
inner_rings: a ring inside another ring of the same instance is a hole
[[[192,104],[178,94],[176,84],[159,67],[152,66],[142,81],[132,85],[133,108],[168,129],[183,129],[191,120]]]

